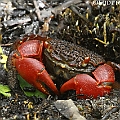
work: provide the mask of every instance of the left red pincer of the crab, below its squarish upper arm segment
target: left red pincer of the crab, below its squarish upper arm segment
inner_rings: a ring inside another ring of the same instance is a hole
[[[14,64],[21,77],[35,88],[45,94],[49,94],[44,87],[44,84],[46,84],[55,94],[59,94],[42,62],[33,58],[15,58]]]

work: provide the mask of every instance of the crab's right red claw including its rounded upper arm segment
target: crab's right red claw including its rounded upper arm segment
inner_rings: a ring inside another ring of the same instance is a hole
[[[112,67],[107,64],[101,65],[93,72],[93,75],[96,80],[87,74],[76,75],[62,85],[60,92],[64,93],[73,89],[76,90],[76,95],[84,95],[78,96],[78,98],[84,99],[97,98],[110,93],[111,86],[107,85],[107,83],[115,81]]]

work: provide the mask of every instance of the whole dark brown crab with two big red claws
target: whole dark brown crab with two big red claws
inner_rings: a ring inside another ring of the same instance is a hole
[[[97,98],[112,89],[113,68],[102,56],[86,48],[39,35],[24,37],[15,46],[7,63],[11,88],[17,84],[17,71],[28,83],[48,95],[51,91],[60,95],[75,90],[78,99]],[[62,82],[55,78],[61,78]]]

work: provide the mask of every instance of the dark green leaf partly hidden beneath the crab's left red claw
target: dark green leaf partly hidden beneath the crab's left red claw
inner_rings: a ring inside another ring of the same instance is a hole
[[[42,92],[40,92],[39,90],[36,89],[35,92],[28,92],[28,91],[24,91],[24,87],[32,87],[32,85],[30,85],[28,82],[26,82],[20,75],[18,75],[18,80],[20,83],[20,87],[23,90],[23,92],[25,93],[26,96],[36,96],[36,97],[41,97],[41,98],[46,98],[46,95],[43,94]]]

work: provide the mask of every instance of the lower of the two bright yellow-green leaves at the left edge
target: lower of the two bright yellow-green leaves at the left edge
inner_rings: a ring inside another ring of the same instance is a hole
[[[10,88],[8,85],[2,85],[0,84],[0,93],[3,94],[6,97],[10,97],[11,93],[10,93]]]

